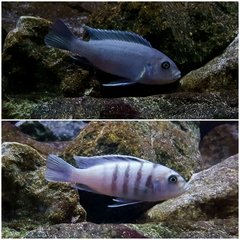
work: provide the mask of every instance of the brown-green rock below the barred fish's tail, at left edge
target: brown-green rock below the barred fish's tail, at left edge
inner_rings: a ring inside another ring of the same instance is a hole
[[[45,158],[28,145],[2,144],[2,220],[5,227],[24,231],[29,218],[38,226],[85,220],[76,191],[69,189],[67,184],[46,182],[45,164]]]

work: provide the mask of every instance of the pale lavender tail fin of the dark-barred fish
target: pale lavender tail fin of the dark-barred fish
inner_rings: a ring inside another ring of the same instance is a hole
[[[47,158],[47,169],[45,179],[50,182],[71,182],[71,176],[75,167],[65,162],[56,155],[49,155]]]

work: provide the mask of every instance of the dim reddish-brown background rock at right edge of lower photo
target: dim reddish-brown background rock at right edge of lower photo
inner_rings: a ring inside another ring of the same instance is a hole
[[[221,122],[200,141],[203,169],[238,153],[238,122]]]

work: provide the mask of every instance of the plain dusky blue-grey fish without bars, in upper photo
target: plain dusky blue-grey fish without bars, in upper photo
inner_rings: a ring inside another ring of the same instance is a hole
[[[181,78],[177,65],[140,35],[87,25],[83,28],[89,41],[77,38],[62,20],[57,19],[44,38],[45,44],[70,51],[96,69],[117,76],[115,81],[103,86],[163,85]]]

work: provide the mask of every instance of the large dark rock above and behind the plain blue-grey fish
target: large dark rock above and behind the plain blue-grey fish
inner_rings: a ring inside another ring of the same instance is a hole
[[[105,3],[89,16],[89,23],[144,36],[186,73],[219,55],[233,41],[238,32],[237,9],[237,3],[222,2]]]

